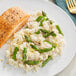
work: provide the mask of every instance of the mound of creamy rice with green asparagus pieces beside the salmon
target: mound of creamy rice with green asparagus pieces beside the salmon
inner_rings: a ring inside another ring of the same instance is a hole
[[[14,34],[9,43],[9,64],[26,71],[37,71],[61,54],[64,35],[59,25],[50,20],[44,11],[38,11],[31,14],[25,26]]]

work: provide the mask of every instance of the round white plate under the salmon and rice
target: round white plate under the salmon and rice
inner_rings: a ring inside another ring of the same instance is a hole
[[[62,9],[60,9],[53,3],[41,0],[1,1],[0,14],[12,6],[19,6],[28,13],[32,10],[37,9],[43,9],[44,11],[46,11],[48,17],[55,19],[60,25],[64,33],[66,46],[62,52],[62,55],[57,57],[55,60],[50,61],[44,68],[41,68],[38,72],[35,73],[26,73],[22,69],[17,69],[6,64],[7,58],[5,57],[5,51],[7,49],[7,45],[4,45],[0,49],[0,59],[3,59],[3,62],[0,62],[0,76],[52,76],[62,71],[70,63],[76,52],[76,32],[74,29],[75,25],[70,17]]]

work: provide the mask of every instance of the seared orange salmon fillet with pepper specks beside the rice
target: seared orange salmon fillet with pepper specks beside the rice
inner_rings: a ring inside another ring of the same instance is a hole
[[[24,24],[30,16],[19,7],[12,7],[0,16],[0,47]]]

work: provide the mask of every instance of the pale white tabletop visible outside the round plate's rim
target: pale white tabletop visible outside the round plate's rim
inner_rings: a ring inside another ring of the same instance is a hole
[[[53,0],[49,0],[49,1],[54,3]],[[76,76],[76,54],[74,58],[72,59],[71,63],[56,76]]]

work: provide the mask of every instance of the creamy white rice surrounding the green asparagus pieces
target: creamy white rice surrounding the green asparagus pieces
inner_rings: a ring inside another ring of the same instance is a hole
[[[27,24],[20,31],[15,33],[14,36],[10,39],[10,47],[7,50],[7,54],[6,54],[10,65],[21,67],[26,71],[31,71],[31,70],[37,71],[41,67],[42,62],[45,61],[48,58],[48,56],[52,56],[54,58],[57,55],[61,54],[61,51],[64,46],[64,37],[58,33],[58,30],[55,27],[55,23],[50,24],[49,21],[44,21],[43,26],[39,27],[39,22],[36,22],[36,18],[40,15],[42,15],[41,11],[37,12],[36,14],[32,14]],[[28,28],[25,28],[26,26],[28,26]],[[38,45],[38,48],[43,49],[43,48],[52,47],[52,45],[50,45],[49,43],[43,42],[45,38],[43,37],[42,33],[35,34],[35,32],[37,32],[38,29],[46,29],[49,31],[54,31],[56,33],[57,35],[56,37],[50,35],[48,38],[46,38],[50,42],[55,43],[57,45],[56,48],[53,48],[52,51],[45,53],[39,53],[38,51],[31,48],[30,46],[31,43],[28,43],[25,40],[24,35],[29,36],[34,43],[40,42],[41,45]],[[16,61],[12,59],[12,55],[15,47],[19,48],[16,54]],[[40,61],[39,64],[28,65],[23,63],[22,57],[23,57],[24,47],[27,47],[26,60],[39,60]]]

